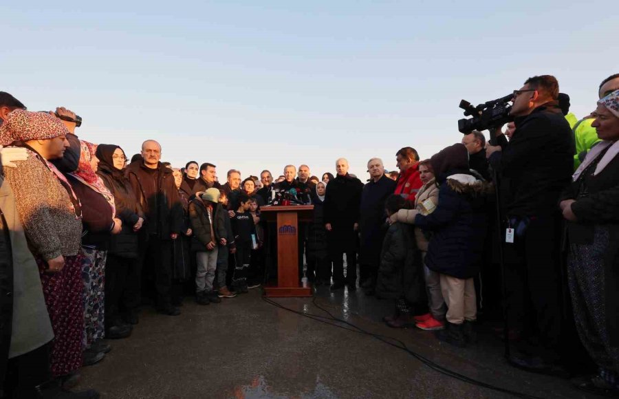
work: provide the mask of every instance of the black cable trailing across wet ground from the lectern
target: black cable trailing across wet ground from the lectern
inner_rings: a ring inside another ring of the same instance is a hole
[[[319,321],[321,323],[332,325],[334,327],[341,328],[342,330],[347,330],[347,331],[350,331],[350,332],[355,332],[357,334],[371,336],[372,338],[378,339],[378,341],[381,341],[382,343],[386,343],[387,345],[390,345],[392,347],[398,348],[400,350],[403,350],[404,352],[409,353],[411,356],[413,356],[417,360],[420,360],[420,362],[424,363],[424,365],[430,367],[431,369],[433,369],[435,371],[438,371],[441,374],[449,376],[451,378],[456,378],[457,380],[461,380],[463,382],[468,382],[469,384],[477,385],[478,387],[484,387],[484,388],[487,388],[487,389],[492,389],[493,391],[499,391],[499,392],[502,392],[502,393],[508,393],[509,395],[516,396],[518,398],[542,399],[539,396],[532,396],[532,395],[528,395],[526,393],[521,393],[521,392],[518,392],[518,391],[512,391],[511,389],[497,387],[496,385],[492,385],[492,384],[488,384],[486,382],[475,380],[474,378],[470,378],[470,377],[464,376],[463,374],[459,374],[459,373],[457,373],[455,371],[452,371],[450,369],[446,369],[445,367],[442,367],[441,365],[438,365],[437,363],[434,363],[432,360],[430,360],[430,359],[428,359],[428,358],[426,358],[426,357],[424,357],[424,356],[422,356],[420,354],[417,354],[413,350],[409,349],[409,347],[406,346],[406,343],[400,341],[398,338],[393,338],[391,336],[384,336],[384,335],[381,335],[381,334],[375,334],[373,332],[368,332],[367,330],[364,330],[361,327],[359,327],[358,325],[354,325],[353,323],[350,323],[349,321],[345,321],[343,319],[338,319],[331,312],[329,312],[329,310],[323,308],[321,305],[318,305],[318,303],[316,302],[316,296],[314,296],[314,299],[312,299],[312,305],[316,306],[316,308],[318,308],[319,310],[322,310],[323,312],[327,313],[329,316],[321,316],[319,314],[305,313],[305,312],[301,312],[299,310],[294,310],[294,309],[291,309],[291,308],[287,308],[284,305],[281,305],[281,303],[277,303],[276,301],[273,301],[272,299],[267,298],[266,296],[262,296],[262,299],[266,303],[268,303],[270,305],[273,305],[276,308],[280,308],[280,309],[286,310],[287,312],[292,312],[294,314],[298,314],[299,316],[307,317],[308,319],[312,319],[314,321]],[[344,325],[340,325],[340,324],[337,324],[337,323],[343,323],[343,324],[348,325],[350,327],[346,327]]]

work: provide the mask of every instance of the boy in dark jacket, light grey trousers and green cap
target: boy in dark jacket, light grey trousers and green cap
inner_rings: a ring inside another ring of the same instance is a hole
[[[218,244],[226,245],[226,211],[219,204],[219,190],[208,188],[201,197],[189,204],[189,219],[193,227],[193,250],[196,253],[195,273],[196,302],[208,305],[221,302],[213,291],[217,270]]]

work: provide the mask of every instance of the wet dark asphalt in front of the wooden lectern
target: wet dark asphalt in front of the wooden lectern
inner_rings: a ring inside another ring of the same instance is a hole
[[[274,299],[298,312],[327,316],[311,298]],[[361,290],[318,288],[318,305],[373,334],[469,378],[538,398],[588,398],[569,381],[520,371],[503,361],[503,344],[482,335],[459,349],[431,332],[394,330],[380,321],[392,303]],[[440,374],[372,336],[294,314],[250,290],[219,304],[186,298],[180,316],[142,310],[130,338],[80,372],[76,389],[102,398],[512,398]],[[326,319],[321,319],[326,320]],[[339,325],[343,325],[340,323]]]

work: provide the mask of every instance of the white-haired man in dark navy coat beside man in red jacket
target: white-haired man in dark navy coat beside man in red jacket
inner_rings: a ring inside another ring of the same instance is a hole
[[[365,293],[374,293],[380,249],[384,239],[385,220],[384,200],[395,191],[395,181],[384,175],[384,166],[380,158],[372,158],[367,162],[370,181],[363,186],[359,214],[359,230],[361,245],[359,249],[359,273],[361,287]]]

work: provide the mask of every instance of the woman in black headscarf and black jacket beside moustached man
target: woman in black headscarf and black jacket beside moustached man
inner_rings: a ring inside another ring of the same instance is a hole
[[[127,285],[136,283],[131,276],[139,277],[138,235],[144,213],[129,178],[124,175],[124,151],[114,144],[99,144],[95,155],[99,159],[97,175],[113,195],[116,217],[122,221],[120,233],[110,239],[105,262],[105,335],[126,338],[131,334],[131,325],[122,321],[120,303]]]

